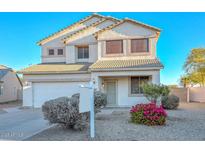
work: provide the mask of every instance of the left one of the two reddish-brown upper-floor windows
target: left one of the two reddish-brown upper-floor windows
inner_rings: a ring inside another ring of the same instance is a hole
[[[106,41],[106,53],[107,54],[123,53],[123,41],[122,40]]]

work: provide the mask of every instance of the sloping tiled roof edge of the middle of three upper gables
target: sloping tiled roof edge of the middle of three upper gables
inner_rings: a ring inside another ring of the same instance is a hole
[[[80,30],[78,30],[78,31],[76,31],[76,32],[74,32],[74,33],[72,33],[72,34],[66,36],[64,39],[62,39],[62,41],[63,41],[64,43],[66,43],[66,42],[67,42],[69,39],[71,39],[72,37],[75,37],[75,36],[77,36],[77,35],[80,35],[81,33],[85,32],[86,30],[89,30],[89,29],[92,28],[92,27],[96,27],[96,26],[100,25],[101,23],[103,23],[103,22],[105,22],[105,21],[107,21],[107,20],[114,21],[115,23],[120,22],[120,20],[117,19],[117,18],[104,17],[103,19],[101,19],[101,20],[99,20],[99,21],[97,21],[97,22],[91,24],[90,26],[87,26],[87,27],[85,27],[85,28],[82,28],[82,29],[80,29]]]

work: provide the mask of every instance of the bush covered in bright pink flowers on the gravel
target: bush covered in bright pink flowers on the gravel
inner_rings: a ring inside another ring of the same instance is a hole
[[[162,106],[157,107],[156,103],[137,104],[130,110],[131,121],[137,124],[149,126],[164,125],[167,113]]]

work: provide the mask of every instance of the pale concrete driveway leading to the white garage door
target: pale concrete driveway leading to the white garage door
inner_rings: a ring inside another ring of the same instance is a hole
[[[7,108],[0,114],[0,140],[24,140],[50,127],[41,109]]]

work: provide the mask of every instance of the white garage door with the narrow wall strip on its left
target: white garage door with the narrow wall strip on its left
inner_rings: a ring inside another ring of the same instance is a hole
[[[45,101],[58,97],[70,97],[79,93],[79,85],[88,82],[33,82],[32,87],[24,88],[23,105],[39,108]]]

